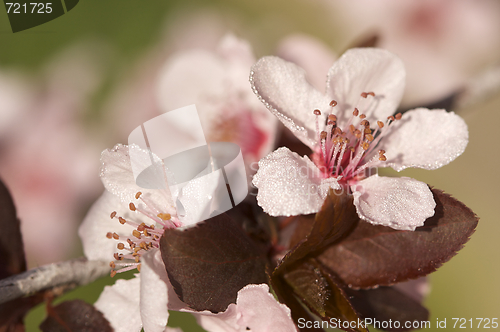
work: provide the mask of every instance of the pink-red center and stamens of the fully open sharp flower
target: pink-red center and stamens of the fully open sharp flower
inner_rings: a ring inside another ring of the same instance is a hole
[[[361,97],[375,97],[375,93],[363,92]],[[384,150],[378,153],[373,150],[387,134],[391,124],[401,119],[401,113],[389,116],[385,123],[377,121],[376,129],[372,130],[366,115],[354,108],[350,119],[340,128],[333,114],[336,105],[335,100],[330,102],[331,111],[323,131],[319,130],[321,111],[313,112],[316,115],[317,144],[312,159],[325,177],[335,177],[339,183],[353,184],[367,177],[370,167],[387,160]]]

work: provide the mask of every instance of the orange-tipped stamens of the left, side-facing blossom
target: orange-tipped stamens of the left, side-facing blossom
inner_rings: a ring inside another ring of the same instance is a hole
[[[146,223],[139,224],[133,220],[127,220],[118,216],[116,211],[111,213],[111,219],[118,220],[122,225],[128,224],[134,227],[130,235],[123,236],[112,232],[106,234],[108,239],[119,241],[116,247],[120,252],[116,252],[114,254],[115,260],[109,263],[112,268],[111,277],[114,277],[117,273],[133,269],[141,271],[141,256],[152,248],[160,247],[160,238],[163,235],[163,231],[166,228],[181,226],[181,222],[177,215],[159,211],[152,202],[143,197],[141,192],[138,192],[135,198],[140,200],[143,204],[135,205],[131,202],[129,204],[129,209],[133,212],[139,212],[145,215],[152,220],[152,223],[149,225]]]

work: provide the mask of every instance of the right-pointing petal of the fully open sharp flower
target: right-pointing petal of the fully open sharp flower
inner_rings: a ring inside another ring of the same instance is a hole
[[[385,150],[396,171],[408,167],[436,169],[460,156],[469,141],[465,121],[453,112],[417,108],[391,124],[377,149]]]

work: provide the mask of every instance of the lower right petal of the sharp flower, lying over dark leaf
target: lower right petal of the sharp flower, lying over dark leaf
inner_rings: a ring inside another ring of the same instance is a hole
[[[415,230],[434,215],[431,190],[415,179],[372,175],[351,190],[359,217],[374,225]]]

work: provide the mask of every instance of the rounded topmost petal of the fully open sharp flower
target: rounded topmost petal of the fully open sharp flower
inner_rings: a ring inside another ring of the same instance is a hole
[[[403,62],[394,54],[376,48],[354,48],[345,52],[330,68],[327,95],[337,101],[338,123],[344,125],[355,107],[375,123],[392,115],[405,87]],[[373,92],[375,97],[361,97]]]

